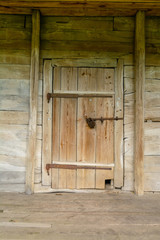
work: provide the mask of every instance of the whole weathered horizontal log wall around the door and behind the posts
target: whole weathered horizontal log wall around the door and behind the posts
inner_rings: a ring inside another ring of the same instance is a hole
[[[160,17],[146,18],[145,191],[160,190]],[[134,17],[41,17],[35,183],[41,184],[43,59],[124,60],[124,190],[133,190]],[[24,191],[31,16],[0,15],[0,190]],[[59,64],[62,60],[59,60]]]

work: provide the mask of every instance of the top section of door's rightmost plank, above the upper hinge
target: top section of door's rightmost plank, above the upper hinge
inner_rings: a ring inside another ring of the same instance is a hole
[[[96,90],[114,92],[114,69],[97,68]]]

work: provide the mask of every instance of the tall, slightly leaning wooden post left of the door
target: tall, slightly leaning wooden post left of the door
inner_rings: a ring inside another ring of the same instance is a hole
[[[31,71],[30,71],[30,118],[29,139],[26,165],[26,193],[34,192],[34,163],[36,155],[37,134],[37,105],[39,81],[39,49],[40,49],[40,12],[32,13],[32,45],[31,45]]]

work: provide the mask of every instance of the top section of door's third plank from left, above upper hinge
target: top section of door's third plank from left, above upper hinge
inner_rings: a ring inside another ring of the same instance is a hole
[[[96,91],[97,68],[78,69],[78,91]]]

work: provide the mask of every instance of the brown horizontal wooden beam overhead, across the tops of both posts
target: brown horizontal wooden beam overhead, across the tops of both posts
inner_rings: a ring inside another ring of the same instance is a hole
[[[151,0],[0,0],[1,14],[31,14],[39,9],[44,16],[134,16],[137,10],[148,16],[160,15],[160,2]]]

